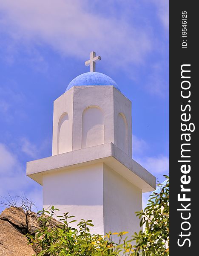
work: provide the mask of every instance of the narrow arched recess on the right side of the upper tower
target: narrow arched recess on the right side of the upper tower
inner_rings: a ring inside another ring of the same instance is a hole
[[[122,113],[117,115],[117,147],[127,153],[128,126],[126,118]]]

